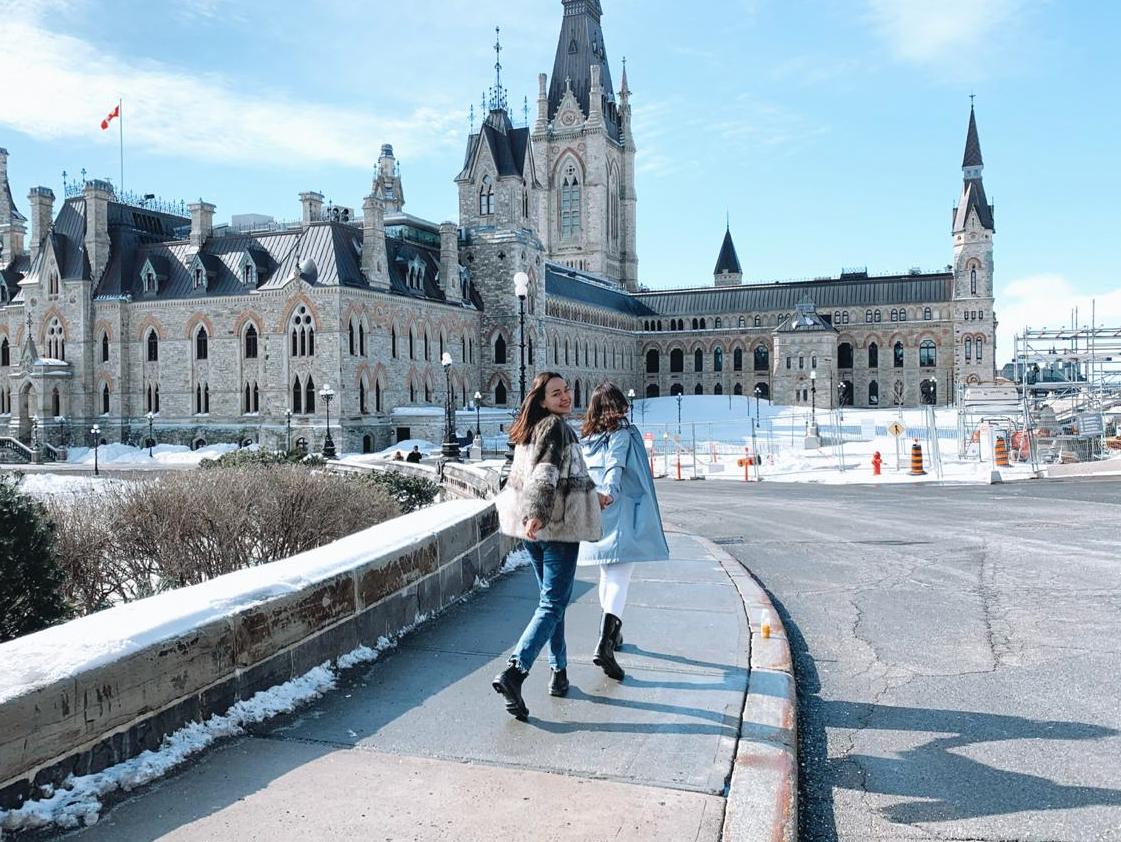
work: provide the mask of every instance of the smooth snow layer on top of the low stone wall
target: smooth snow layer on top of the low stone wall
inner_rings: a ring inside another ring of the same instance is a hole
[[[4,665],[0,702],[300,591],[361,564],[370,557],[370,547],[385,553],[406,547],[489,505],[483,500],[438,503],[291,558],[234,571],[0,644]]]

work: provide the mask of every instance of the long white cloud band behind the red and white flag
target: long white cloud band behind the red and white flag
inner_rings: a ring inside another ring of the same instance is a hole
[[[40,11],[22,2],[8,6],[0,50],[0,78],[34,81],[8,86],[0,124],[37,139],[115,142],[114,132],[99,126],[123,98],[128,142],[179,158],[368,167],[383,141],[419,159],[462,140],[466,114],[455,109],[427,105],[379,114],[368,103],[344,108],[239,90],[221,74],[109,55],[81,38],[49,31],[37,20]]]

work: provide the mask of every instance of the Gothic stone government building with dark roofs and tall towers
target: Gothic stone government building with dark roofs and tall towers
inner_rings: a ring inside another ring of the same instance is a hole
[[[299,196],[293,223],[214,224],[214,206],[119,195],[104,181],[28,195],[0,150],[0,436],[317,447],[318,389],[341,450],[438,441],[454,403],[518,400],[525,271],[528,376],[549,368],[577,407],[613,379],[648,397],[736,394],[819,406],[945,403],[994,378],[993,210],[971,109],[953,262],[942,272],[745,283],[725,231],[711,285],[647,290],[636,252],[636,141],[599,0],[562,0],[537,118],[515,127],[501,80],[455,176],[458,223],[404,211],[382,147],[361,212]],[[25,248],[28,223],[30,237]],[[830,389],[826,385],[834,383]],[[834,394],[835,392],[835,394]],[[290,420],[289,415],[290,414]],[[290,423],[290,427],[289,427]],[[461,410],[461,432],[474,414]]]

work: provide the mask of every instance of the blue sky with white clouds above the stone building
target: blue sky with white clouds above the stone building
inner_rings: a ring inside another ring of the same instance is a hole
[[[638,144],[639,276],[711,284],[730,214],[748,279],[952,257],[969,94],[997,206],[999,357],[1080,307],[1121,323],[1121,4],[1105,0],[602,0]],[[0,146],[21,210],[61,172],[298,215],[354,207],[391,142],[406,210],[453,219],[467,108],[503,82],[534,117],[559,0],[0,0]],[[15,81],[15,84],[12,84]],[[618,84],[617,84],[618,86]]]

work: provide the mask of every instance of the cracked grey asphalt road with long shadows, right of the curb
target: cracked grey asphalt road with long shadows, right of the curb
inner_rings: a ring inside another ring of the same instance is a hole
[[[1121,481],[658,494],[782,614],[803,840],[1121,840]]]

